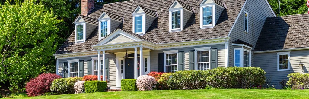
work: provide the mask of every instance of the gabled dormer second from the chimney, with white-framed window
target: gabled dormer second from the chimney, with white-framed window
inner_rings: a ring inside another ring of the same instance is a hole
[[[99,20],[99,40],[109,35],[112,31],[116,30],[123,22],[123,18],[116,14],[103,11]]]

